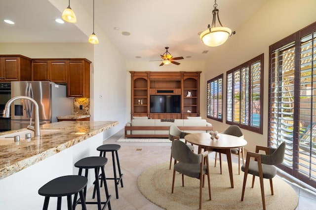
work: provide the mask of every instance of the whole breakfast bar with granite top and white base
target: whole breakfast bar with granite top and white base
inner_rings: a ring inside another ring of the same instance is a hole
[[[104,131],[116,125],[117,121],[44,124],[40,130],[46,133],[40,137],[0,145],[0,210],[42,209],[44,197],[38,194],[39,188],[53,178],[78,175],[74,164],[81,158],[98,156],[96,148],[103,144]],[[47,133],[49,130],[53,132]],[[19,130],[21,134],[25,131]],[[87,189],[93,178],[88,180]],[[57,199],[51,199],[49,208],[55,209],[56,203]],[[67,201],[62,204],[67,206]]]

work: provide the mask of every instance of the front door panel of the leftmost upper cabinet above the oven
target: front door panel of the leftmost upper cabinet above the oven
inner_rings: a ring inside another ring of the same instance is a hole
[[[2,58],[2,77],[4,81],[18,81],[20,78],[20,58]]]

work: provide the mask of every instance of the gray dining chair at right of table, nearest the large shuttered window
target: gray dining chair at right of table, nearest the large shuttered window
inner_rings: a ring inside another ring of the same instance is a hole
[[[285,146],[286,146],[286,143],[285,141],[283,141],[277,148],[256,146],[256,153],[249,152],[249,151],[247,152],[246,163],[243,164],[241,167],[241,171],[245,173],[243,177],[241,201],[243,201],[247,175],[248,174],[253,175],[252,185],[251,185],[252,188],[255,181],[255,176],[259,176],[262,206],[264,210],[266,209],[263,178],[270,179],[271,194],[273,195],[274,193],[273,193],[272,178],[275,177],[276,175],[275,165],[281,164],[283,162]],[[260,150],[265,151],[266,154],[260,154],[259,153]],[[255,160],[250,160],[251,157],[255,158]]]

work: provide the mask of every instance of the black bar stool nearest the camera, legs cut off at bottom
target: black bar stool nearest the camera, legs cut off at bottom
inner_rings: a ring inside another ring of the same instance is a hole
[[[39,194],[45,196],[43,210],[48,209],[50,197],[57,198],[57,210],[61,210],[61,197],[67,196],[68,210],[73,210],[72,195],[80,196],[82,210],[86,210],[83,189],[87,186],[88,179],[80,175],[66,175],[55,178],[39,189]]]

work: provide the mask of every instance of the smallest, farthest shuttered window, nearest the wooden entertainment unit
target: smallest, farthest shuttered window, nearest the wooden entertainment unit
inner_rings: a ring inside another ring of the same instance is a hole
[[[207,118],[223,122],[223,74],[207,81]]]

